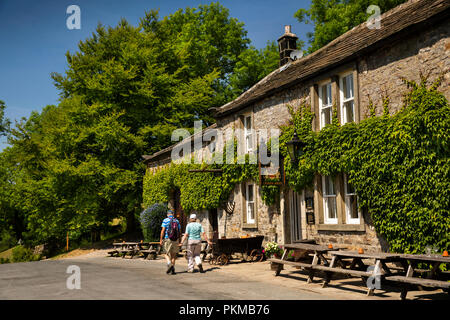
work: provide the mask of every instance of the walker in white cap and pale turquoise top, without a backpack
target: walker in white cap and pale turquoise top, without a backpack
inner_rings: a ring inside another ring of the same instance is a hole
[[[197,264],[198,269],[203,273],[202,260],[200,259],[200,251],[202,248],[202,238],[203,237],[208,242],[209,245],[212,244],[211,241],[206,237],[206,233],[203,230],[203,226],[197,222],[197,216],[191,214],[189,217],[189,224],[186,226],[186,233],[183,236],[179,246],[182,246],[184,241],[188,238],[187,245],[187,257],[188,257],[188,272],[194,272],[194,261]]]

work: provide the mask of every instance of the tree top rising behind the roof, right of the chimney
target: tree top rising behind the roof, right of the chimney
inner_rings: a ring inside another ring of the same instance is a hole
[[[384,13],[406,0],[312,0],[309,9],[299,9],[294,17],[299,22],[314,24],[314,32],[308,33],[313,52],[325,46],[353,27],[367,21],[373,12],[367,13],[370,5],[376,5]]]

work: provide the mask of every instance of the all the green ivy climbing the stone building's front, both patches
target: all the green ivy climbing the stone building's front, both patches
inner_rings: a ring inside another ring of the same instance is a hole
[[[360,123],[339,125],[336,110],[331,125],[312,130],[314,114],[307,105],[289,107],[290,124],[282,127],[280,152],[289,186],[301,192],[313,185],[314,176],[347,173],[358,194],[358,205],[371,214],[376,231],[393,252],[422,253],[427,246],[450,248],[450,107],[437,90],[440,80],[427,86],[404,81],[411,89],[402,110],[389,115],[389,99],[383,99],[383,115]],[[336,108],[335,108],[336,109]],[[294,130],[305,142],[297,164],[290,161],[286,142]],[[247,159],[248,160],[248,159]],[[247,162],[248,163],[248,162]],[[189,173],[189,169],[221,168],[223,174]],[[235,185],[258,178],[257,165],[169,165],[144,178],[144,203],[167,202],[174,188],[181,191],[186,212],[217,208]],[[261,186],[267,205],[277,203],[278,186]]]

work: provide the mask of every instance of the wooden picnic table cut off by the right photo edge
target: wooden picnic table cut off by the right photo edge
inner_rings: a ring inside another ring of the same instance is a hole
[[[443,257],[437,254],[399,254],[400,262],[404,268],[405,275],[386,276],[385,279],[402,284],[400,298],[404,300],[408,293],[408,287],[412,285],[422,287],[438,288],[450,293],[450,282],[448,273],[441,272],[442,264],[450,265],[450,257]],[[417,269],[419,263],[430,265],[429,270]],[[418,274],[425,274],[425,278],[417,277]]]

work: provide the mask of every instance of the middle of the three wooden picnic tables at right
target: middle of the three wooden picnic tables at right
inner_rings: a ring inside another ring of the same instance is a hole
[[[366,281],[369,277],[384,277],[385,275],[393,275],[393,271],[388,267],[388,262],[398,262],[400,261],[400,255],[395,253],[359,253],[358,251],[330,251],[332,255],[331,262],[329,266],[321,267],[318,266],[316,270],[321,270],[325,272],[325,279],[323,282],[323,287],[327,286],[330,282],[331,275],[333,273],[346,274],[349,276],[361,277],[363,281]],[[363,260],[370,259],[374,260],[373,270],[369,267],[372,264],[365,264]],[[379,283],[380,283],[379,282]],[[375,287],[368,287],[367,295],[373,295]]]

